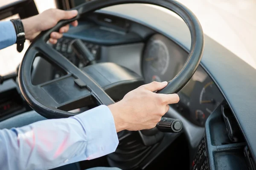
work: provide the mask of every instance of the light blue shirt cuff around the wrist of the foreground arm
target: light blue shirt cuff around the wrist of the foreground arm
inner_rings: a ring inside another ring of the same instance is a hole
[[[87,112],[73,116],[80,122],[87,136],[87,160],[113,153],[119,144],[113,115],[110,109],[101,105]]]

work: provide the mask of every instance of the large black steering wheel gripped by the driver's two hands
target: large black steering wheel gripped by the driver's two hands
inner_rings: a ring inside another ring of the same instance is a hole
[[[192,40],[188,59],[179,74],[158,93],[171,94],[182,89],[195,73],[203,55],[204,33],[195,15],[186,6],[174,0],[95,0],[77,6],[75,9],[78,10],[79,14],[75,18],[61,20],[52,29],[42,32],[26,51],[20,64],[18,79],[21,93],[32,109],[46,118],[64,118],[76,115],[76,113],[63,111],[65,106],[72,105],[74,102],[84,102],[82,99],[85,97],[90,98],[88,102],[96,100],[98,104],[114,104],[114,101],[87,73],[82,72],[46,42],[49,40],[51,32],[58,31],[62,26],[79,19],[84,14],[125,3],[146,3],[161,6],[175,12],[186,22]],[[67,75],[44,84],[33,85],[31,70],[38,54],[43,54],[47,61],[60,67],[67,72]]]

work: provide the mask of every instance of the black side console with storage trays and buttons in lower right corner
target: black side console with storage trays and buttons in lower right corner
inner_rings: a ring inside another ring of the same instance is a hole
[[[227,104],[219,105],[205,124],[205,135],[192,170],[256,170],[236,119]]]

